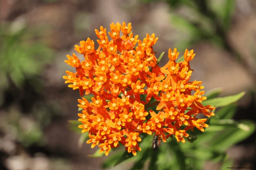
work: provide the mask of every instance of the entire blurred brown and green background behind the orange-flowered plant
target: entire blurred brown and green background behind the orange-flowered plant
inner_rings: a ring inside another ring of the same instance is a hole
[[[132,23],[139,39],[159,37],[154,51],[180,56],[194,49],[191,80],[221,96],[245,91],[234,119],[255,120],[255,0],[0,0],[0,169],[101,169],[105,157],[90,158],[78,146],[68,120],[77,120],[78,91],[64,84],[64,63],[75,44],[112,22]],[[227,150],[234,166],[256,168],[255,133]],[[210,160],[204,169],[218,169]],[[115,168],[112,168],[115,169]]]

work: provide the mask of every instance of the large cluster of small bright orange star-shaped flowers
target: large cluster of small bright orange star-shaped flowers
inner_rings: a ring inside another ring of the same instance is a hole
[[[123,144],[125,150],[136,155],[136,151],[141,151],[141,133],[154,133],[164,142],[174,135],[184,143],[189,129],[204,131],[207,119],[195,116],[213,116],[214,107],[201,104],[206,99],[202,96],[204,91],[200,91],[204,88],[202,81],[189,82],[193,50],[186,49],[185,60],[176,63],[179,53],[176,48],[169,49],[170,60],[160,68],[152,47],[158,40],[154,33],[141,41],[131,32],[131,23],[124,22],[112,23],[110,30],[109,41],[106,28],[95,29],[99,38],[97,49],[90,38],[75,45],[75,50],[84,55],[82,62],[75,54],[67,55],[65,60],[76,68],[75,73],[66,71],[68,76],[63,76],[65,83],[71,83],[68,87],[79,89],[81,96],[94,95],[91,101],[78,99],[78,107],[83,109],[78,114],[82,122],[78,127],[82,133],[89,131],[87,143],[92,148],[98,145],[105,155]],[[157,114],[147,110],[154,106]]]

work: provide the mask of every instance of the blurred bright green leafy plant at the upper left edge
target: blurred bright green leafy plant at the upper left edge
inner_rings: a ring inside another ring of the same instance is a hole
[[[43,29],[28,28],[23,21],[0,24],[0,79],[6,89],[10,79],[17,87],[39,76],[53,51],[41,39]]]

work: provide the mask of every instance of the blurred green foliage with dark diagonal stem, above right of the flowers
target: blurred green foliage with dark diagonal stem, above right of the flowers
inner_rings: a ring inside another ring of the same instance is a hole
[[[199,41],[211,41],[232,51],[227,32],[235,11],[233,0],[142,0],[142,2],[166,2],[171,8],[172,26],[182,34],[174,44],[179,49],[191,47]],[[186,12],[178,11],[183,10]]]

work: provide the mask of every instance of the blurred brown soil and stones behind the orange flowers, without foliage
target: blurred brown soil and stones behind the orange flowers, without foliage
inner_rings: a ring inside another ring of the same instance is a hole
[[[191,62],[194,69],[191,79],[203,81],[205,91],[221,87],[222,95],[236,94],[241,91],[255,90],[256,80],[251,75],[255,73],[255,44],[256,44],[256,3],[255,1],[236,1],[236,12],[232,28],[228,33],[231,46],[242,51],[243,57],[248,62],[244,67],[234,59],[234,54],[210,42],[199,42],[193,45],[196,57]],[[184,12],[180,9],[180,13]],[[79,134],[68,129],[67,120],[77,119],[77,99],[79,94],[68,88],[62,78],[65,70],[70,70],[64,60],[66,55],[71,55],[74,45],[90,37],[96,42],[94,29],[100,26],[109,31],[111,22],[125,21],[132,23],[132,30],[140,39],[146,33],[155,33],[159,37],[154,50],[165,52],[162,65],[167,60],[169,48],[184,35],[175,30],[170,22],[170,9],[164,2],[142,4],[140,1],[80,1],[60,0],[46,3],[43,0],[1,0],[0,22],[17,22],[25,20],[28,26],[46,26],[46,34],[41,41],[56,50],[51,64],[47,65],[42,73],[47,82],[42,94],[44,101],[58,104],[59,115],[52,117],[50,123],[44,128],[45,145],[24,147],[12,139],[12,135],[3,134],[0,138],[1,153],[4,153],[1,164],[6,168],[20,165],[20,169],[100,169],[100,162],[104,158],[88,158],[94,153],[90,144],[82,148],[77,146]],[[97,43],[95,43],[97,44]],[[97,46],[97,45],[96,45]],[[182,55],[184,49],[178,49]],[[181,56],[180,55],[180,56]],[[248,99],[243,102],[244,107],[249,107]],[[29,100],[28,100],[29,102]],[[38,100],[40,102],[40,100]],[[12,106],[19,101],[14,100]],[[19,108],[15,108],[19,110]],[[252,110],[255,114],[255,110]],[[7,115],[8,111],[1,111]],[[31,111],[30,111],[31,112]],[[26,116],[30,114],[28,111]],[[7,115],[8,116],[8,115]],[[250,117],[245,117],[249,118]],[[255,156],[255,138],[252,143],[235,146],[229,150],[230,156],[238,162],[244,157],[252,159]],[[10,151],[6,151],[8,148]],[[245,154],[246,153],[246,154]],[[99,161],[100,160],[100,161]],[[22,168],[24,167],[24,168]],[[212,166],[210,166],[212,167]],[[15,168],[10,168],[15,169]],[[207,169],[207,168],[206,168]],[[209,169],[209,168],[208,168]]]

